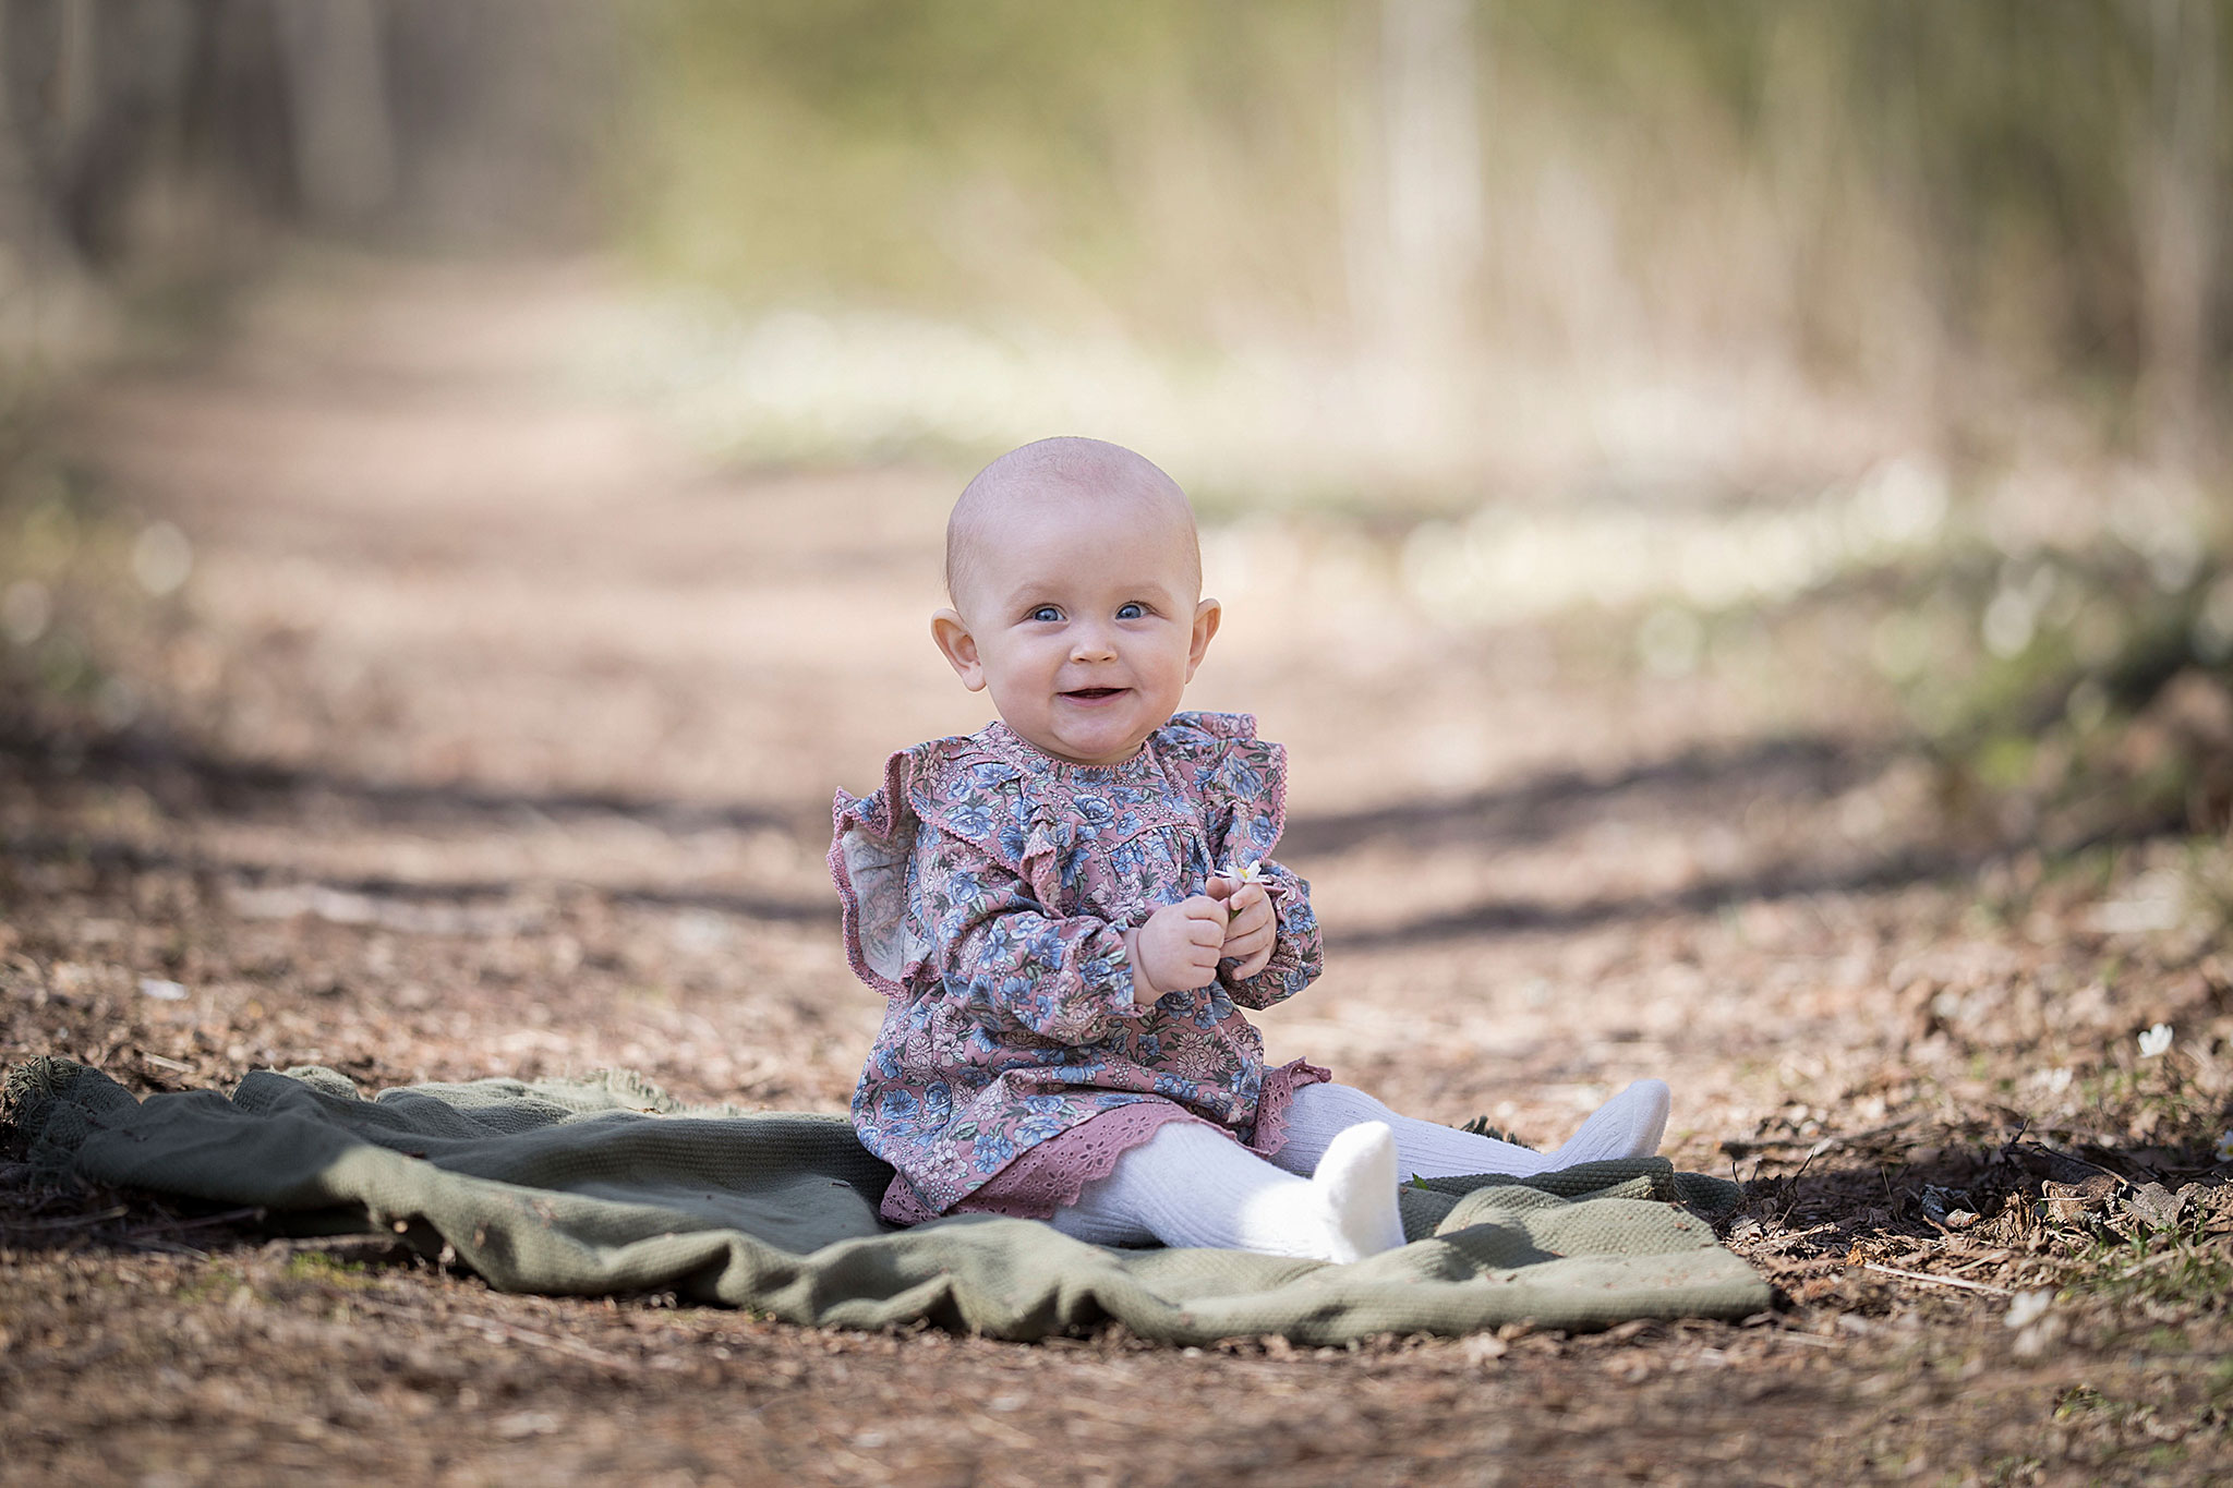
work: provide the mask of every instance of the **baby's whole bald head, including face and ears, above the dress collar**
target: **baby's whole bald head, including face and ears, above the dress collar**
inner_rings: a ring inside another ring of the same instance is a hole
[[[1217,634],[1186,493],[1128,448],[1041,439],[978,471],[947,518],[931,636],[1000,718],[1079,765],[1132,759]]]

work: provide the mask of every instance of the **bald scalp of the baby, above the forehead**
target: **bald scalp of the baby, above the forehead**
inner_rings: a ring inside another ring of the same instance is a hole
[[[947,518],[947,598],[965,593],[998,558],[1000,531],[1020,513],[1063,502],[1096,509],[1132,506],[1141,524],[1168,522],[1186,533],[1190,584],[1201,593],[1201,547],[1195,509],[1179,482],[1150,460],[1105,439],[1038,439],[994,460],[962,489]]]

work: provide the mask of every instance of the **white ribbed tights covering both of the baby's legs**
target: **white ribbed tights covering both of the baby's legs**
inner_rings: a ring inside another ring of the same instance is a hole
[[[1603,1158],[1648,1158],[1668,1086],[1637,1080],[1559,1151],[1398,1115],[1346,1084],[1306,1084],[1286,1109],[1286,1144],[1259,1158],[1199,1122],[1170,1122],[1121,1156],[1054,1227],[1094,1245],[1199,1245],[1311,1260],[1362,1260],[1402,1245],[1396,1185],[1465,1173],[1530,1176]],[[1309,1176],[1304,1176],[1309,1173]]]

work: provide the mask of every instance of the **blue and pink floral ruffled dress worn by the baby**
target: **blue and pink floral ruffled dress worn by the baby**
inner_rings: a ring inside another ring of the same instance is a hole
[[[1239,1008],[1320,970],[1309,883],[1271,861],[1271,962],[1146,1006],[1123,933],[1264,859],[1286,750],[1246,714],[1177,714],[1121,765],[1056,761],[1005,723],[893,754],[837,792],[831,875],[853,970],[889,999],[853,1093],[862,1144],[898,1169],[884,1218],[1052,1214],[1166,1120],[1275,1151],[1286,1098],[1326,1071],[1266,1071]]]

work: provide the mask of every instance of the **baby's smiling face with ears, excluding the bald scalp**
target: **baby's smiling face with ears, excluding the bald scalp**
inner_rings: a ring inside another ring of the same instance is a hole
[[[1152,502],[1058,495],[1016,502],[978,542],[958,613],[933,620],[962,685],[1056,759],[1132,759],[1217,631],[1190,524]]]

